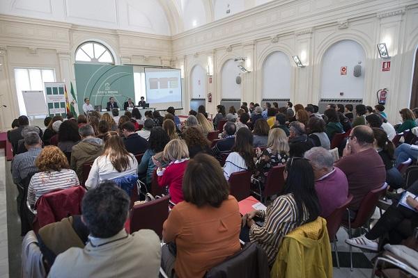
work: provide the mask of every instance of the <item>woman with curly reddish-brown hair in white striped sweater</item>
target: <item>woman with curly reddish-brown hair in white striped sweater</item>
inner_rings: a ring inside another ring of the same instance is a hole
[[[77,174],[69,169],[67,158],[61,149],[47,146],[42,149],[35,166],[40,172],[33,175],[28,187],[28,202],[31,206],[49,191],[79,186]]]

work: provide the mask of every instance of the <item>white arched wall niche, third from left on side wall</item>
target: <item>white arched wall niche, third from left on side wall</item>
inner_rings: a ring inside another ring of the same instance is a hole
[[[281,51],[274,51],[263,63],[263,99],[291,97],[291,63]]]

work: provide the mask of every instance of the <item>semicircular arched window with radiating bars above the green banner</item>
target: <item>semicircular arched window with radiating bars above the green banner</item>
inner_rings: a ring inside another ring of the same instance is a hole
[[[107,47],[99,42],[84,42],[75,51],[76,62],[114,64],[115,60]]]

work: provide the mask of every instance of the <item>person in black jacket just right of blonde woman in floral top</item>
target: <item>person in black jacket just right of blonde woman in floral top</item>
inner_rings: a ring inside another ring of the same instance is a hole
[[[302,122],[291,122],[291,125],[289,126],[289,132],[289,155],[291,157],[303,157],[304,152],[313,147],[311,140],[309,140],[306,134],[304,125]]]

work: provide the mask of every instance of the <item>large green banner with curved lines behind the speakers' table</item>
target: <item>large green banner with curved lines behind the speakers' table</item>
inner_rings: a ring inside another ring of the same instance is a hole
[[[77,104],[82,113],[84,98],[93,106],[106,109],[110,97],[116,99],[123,110],[123,103],[131,98],[135,101],[134,68],[126,65],[75,64]]]

